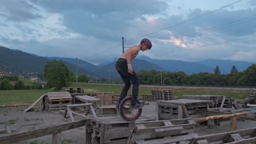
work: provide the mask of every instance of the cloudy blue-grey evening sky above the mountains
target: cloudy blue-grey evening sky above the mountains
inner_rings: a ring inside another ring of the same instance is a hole
[[[141,56],[256,62],[255,12],[254,0],[3,0],[0,45],[97,64],[121,55],[121,37],[148,38]]]

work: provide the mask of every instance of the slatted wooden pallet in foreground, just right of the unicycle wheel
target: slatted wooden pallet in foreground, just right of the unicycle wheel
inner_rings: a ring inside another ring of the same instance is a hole
[[[196,123],[191,118],[169,121],[137,122],[129,144],[176,143],[191,140]]]

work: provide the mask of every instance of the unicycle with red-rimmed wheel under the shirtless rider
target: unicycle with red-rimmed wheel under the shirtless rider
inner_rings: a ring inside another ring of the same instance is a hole
[[[141,104],[139,100],[137,100],[137,103]],[[131,105],[131,97],[124,98],[119,104],[120,115],[125,121],[136,121],[136,119],[138,119],[139,116],[141,116],[142,108],[131,110],[130,105]]]

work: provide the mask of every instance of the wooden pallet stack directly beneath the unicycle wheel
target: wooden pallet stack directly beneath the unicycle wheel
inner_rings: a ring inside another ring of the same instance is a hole
[[[152,120],[148,117],[137,119],[137,121]],[[124,121],[120,116],[91,118],[90,128],[86,131],[86,142],[97,144],[127,143],[134,124],[135,122]]]

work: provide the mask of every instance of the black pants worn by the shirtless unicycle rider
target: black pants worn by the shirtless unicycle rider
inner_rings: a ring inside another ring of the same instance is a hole
[[[139,79],[133,71],[132,74],[128,73],[127,61],[126,59],[119,58],[117,63],[115,63],[115,69],[117,69],[118,74],[121,76],[121,79],[124,81],[125,85],[122,89],[120,94],[120,98],[118,103],[120,104],[121,101],[126,97],[129,88],[131,87],[132,83],[132,100],[131,104],[135,105],[137,103],[138,98],[138,91],[139,91]]]

